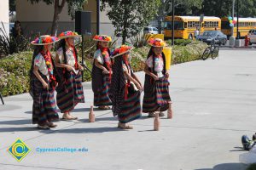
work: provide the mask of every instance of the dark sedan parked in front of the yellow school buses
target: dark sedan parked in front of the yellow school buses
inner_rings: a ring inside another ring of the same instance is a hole
[[[225,45],[228,37],[224,35],[222,31],[204,31],[198,39],[202,42],[206,42],[207,44],[210,44],[214,40],[218,45]]]

